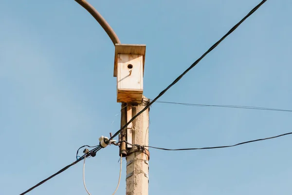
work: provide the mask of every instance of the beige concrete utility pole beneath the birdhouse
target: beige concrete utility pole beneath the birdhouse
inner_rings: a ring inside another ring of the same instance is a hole
[[[135,116],[149,103],[149,99],[143,98],[140,104],[127,105],[127,120]],[[129,112],[132,109],[132,112]],[[149,109],[139,115],[131,125],[132,144],[141,146],[148,145],[149,135]],[[126,195],[148,195],[148,171],[149,171],[149,152],[143,147],[130,147],[127,151],[127,176],[126,176]]]

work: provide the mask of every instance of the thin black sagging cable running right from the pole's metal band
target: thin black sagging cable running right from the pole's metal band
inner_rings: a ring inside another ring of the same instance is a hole
[[[255,140],[251,140],[251,141],[245,141],[245,142],[241,142],[241,143],[237,143],[237,144],[234,144],[234,145],[227,145],[227,146],[215,146],[215,147],[204,147],[204,148],[180,148],[180,149],[167,149],[167,148],[159,148],[159,147],[154,147],[154,146],[141,146],[141,145],[137,145],[137,144],[130,144],[128,143],[127,141],[120,141],[118,143],[121,143],[121,142],[126,142],[132,146],[136,146],[136,147],[148,147],[148,148],[154,148],[154,149],[158,149],[158,150],[167,150],[167,151],[182,151],[182,150],[207,150],[207,149],[217,149],[217,148],[230,148],[230,147],[234,147],[234,146],[239,146],[239,145],[242,145],[242,144],[246,144],[246,143],[251,143],[251,142],[256,142],[256,141],[262,141],[262,140],[267,140],[267,139],[274,139],[274,138],[277,138],[277,137],[282,137],[282,136],[288,136],[288,135],[291,135],[292,132],[290,133],[286,133],[286,134],[281,134],[281,135],[278,135],[278,136],[274,136],[274,137],[266,137],[266,138],[261,138],[261,139],[255,139]]]

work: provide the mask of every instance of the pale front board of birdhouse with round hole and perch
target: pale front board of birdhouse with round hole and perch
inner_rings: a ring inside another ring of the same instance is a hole
[[[143,55],[118,55],[117,87],[143,90]]]

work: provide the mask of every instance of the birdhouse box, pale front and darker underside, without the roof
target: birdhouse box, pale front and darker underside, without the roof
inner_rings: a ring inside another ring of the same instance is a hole
[[[117,102],[141,103],[143,55],[117,55]]]

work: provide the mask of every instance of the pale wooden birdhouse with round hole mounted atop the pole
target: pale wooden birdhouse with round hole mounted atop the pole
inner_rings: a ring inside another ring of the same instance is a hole
[[[115,44],[117,102],[141,103],[146,45]]]

